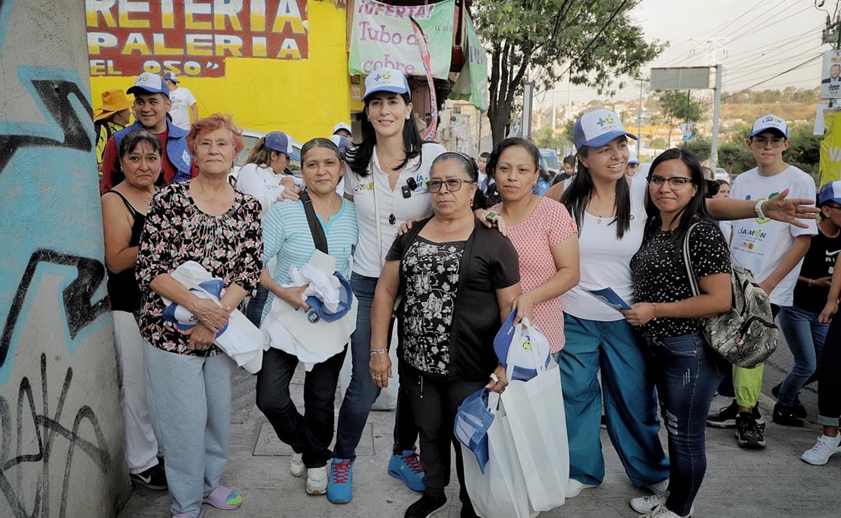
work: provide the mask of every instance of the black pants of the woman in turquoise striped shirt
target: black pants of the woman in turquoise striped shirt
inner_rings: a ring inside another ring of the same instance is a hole
[[[289,382],[298,366],[298,357],[279,349],[263,353],[263,364],[257,373],[257,408],[272,423],[278,438],[303,454],[307,468],[321,468],[333,457],[333,422],[336,384],[347,347],[321,362],[304,375],[304,415],[289,395]]]

